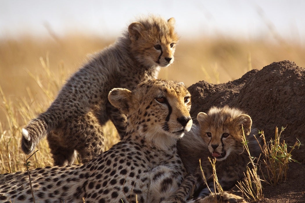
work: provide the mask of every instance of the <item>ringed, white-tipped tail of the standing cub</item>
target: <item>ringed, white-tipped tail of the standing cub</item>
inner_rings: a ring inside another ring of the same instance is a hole
[[[22,129],[21,149],[24,153],[30,154],[38,142],[48,134],[47,124],[41,119],[33,119]]]

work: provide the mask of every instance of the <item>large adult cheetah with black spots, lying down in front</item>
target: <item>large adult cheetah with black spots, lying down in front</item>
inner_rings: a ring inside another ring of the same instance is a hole
[[[124,138],[82,166],[31,170],[36,202],[160,202],[185,175],[176,143],[192,127],[182,83],[150,80],[115,88],[109,102],[127,114]],[[0,201],[33,202],[27,172],[0,175]]]

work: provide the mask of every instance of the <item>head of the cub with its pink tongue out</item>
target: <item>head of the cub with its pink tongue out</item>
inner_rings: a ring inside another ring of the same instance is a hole
[[[212,107],[209,112],[197,115],[200,124],[200,135],[208,145],[213,157],[221,161],[231,153],[243,152],[242,137],[251,131],[251,117],[242,111],[225,106]]]

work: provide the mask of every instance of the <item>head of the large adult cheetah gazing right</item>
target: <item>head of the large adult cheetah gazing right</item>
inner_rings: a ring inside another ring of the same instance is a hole
[[[127,115],[127,133],[169,146],[192,127],[191,95],[183,83],[149,80],[133,91],[114,88],[109,102]]]

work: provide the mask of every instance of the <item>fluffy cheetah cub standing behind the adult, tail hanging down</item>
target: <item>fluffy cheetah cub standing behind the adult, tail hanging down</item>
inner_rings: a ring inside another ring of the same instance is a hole
[[[174,23],[174,18],[156,16],[131,23],[113,45],[74,73],[51,106],[22,129],[23,152],[32,153],[47,137],[55,165],[73,164],[77,152],[86,163],[104,151],[102,126],[109,119],[123,138],[126,116],[109,103],[108,93],[156,79],[160,67],[173,63],[178,41]]]

